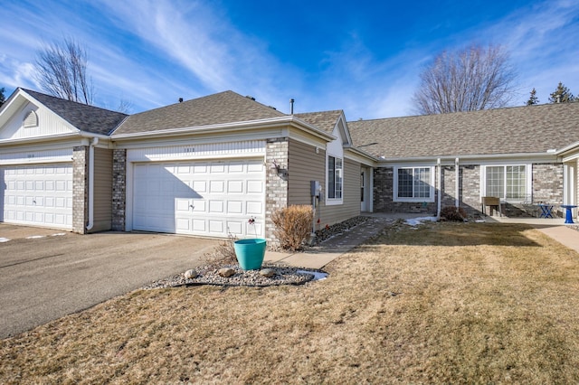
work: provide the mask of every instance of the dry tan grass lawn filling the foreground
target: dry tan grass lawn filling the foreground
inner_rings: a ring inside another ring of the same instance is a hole
[[[579,255],[396,225],[304,286],[135,291],[0,341],[3,383],[573,383]]]

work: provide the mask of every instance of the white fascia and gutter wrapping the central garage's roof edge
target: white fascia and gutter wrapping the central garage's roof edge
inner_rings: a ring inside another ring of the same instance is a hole
[[[123,140],[133,140],[133,139],[143,139],[143,138],[155,138],[155,137],[166,137],[166,136],[184,136],[192,134],[211,134],[214,132],[234,132],[234,131],[246,131],[252,128],[263,128],[263,127],[280,127],[280,126],[294,126],[301,127],[311,132],[313,135],[320,137],[327,137],[329,140],[333,136],[327,135],[324,131],[308,125],[306,122],[296,118],[296,117],[272,117],[267,119],[259,120],[248,120],[244,122],[232,122],[223,123],[218,125],[207,125],[198,127],[182,127],[182,128],[170,128],[158,131],[147,131],[138,132],[132,134],[113,134],[110,136],[112,140],[123,141]]]

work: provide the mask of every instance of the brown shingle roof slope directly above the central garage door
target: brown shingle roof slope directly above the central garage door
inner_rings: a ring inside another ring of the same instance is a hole
[[[224,91],[131,115],[115,131],[114,135],[210,126],[284,116],[286,115],[280,111],[253,99],[243,97],[233,91]]]

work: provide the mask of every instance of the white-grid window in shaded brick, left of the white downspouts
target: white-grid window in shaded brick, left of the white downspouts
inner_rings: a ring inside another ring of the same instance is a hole
[[[434,202],[433,167],[394,167],[394,202]]]

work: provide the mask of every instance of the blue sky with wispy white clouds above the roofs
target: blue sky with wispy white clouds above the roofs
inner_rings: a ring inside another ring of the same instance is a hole
[[[132,113],[232,89],[289,112],[344,109],[348,120],[413,115],[424,65],[442,50],[501,44],[518,97],[559,81],[579,94],[579,2],[13,0],[0,7],[0,87],[42,90],[43,43],[89,53],[95,104]],[[8,96],[6,95],[6,96]]]

